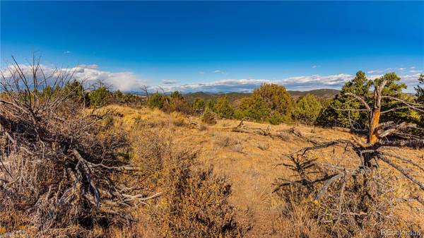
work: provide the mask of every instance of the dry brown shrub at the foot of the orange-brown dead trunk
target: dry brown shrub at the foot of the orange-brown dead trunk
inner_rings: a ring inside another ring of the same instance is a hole
[[[359,234],[364,237],[379,237],[381,230],[393,229],[399,225],[394,216],[394,189],[391,178],[382,174],[374,174],[371,179],[364,174],[355,177],[343,176],[326,188],[322,181],[323,174],[329,178],[336,172],[328,167],[311,165],[298,174],[303,177],[302,183],[287,185],[278,190],[278,196],[285,201],[283,217],[295,215],[296,209],[306,209],[308,216],[317,222],[322,230],[330,236],[353,237]],[[300,163],[307,167],[307,163]],[[319,176],[317,176],[319,174]],[[372,197],[365,189],[366,184],[375,185]],[[326,189],[324,196],[324,189]],[[408,227],[399,228],[408,229]]]

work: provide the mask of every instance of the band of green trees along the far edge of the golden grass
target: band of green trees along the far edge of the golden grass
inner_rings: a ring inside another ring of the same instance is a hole
[[[285,90],[283,85],[264,83],[253,93],[189,93],[179,91],[170,94],[147,93],[146,97],[111,91],[105,85],[100,85],[90,92],[83,91],[82,85],[73,82],[67,87],[78,88],[81,100],[87,106],[102,107],[107,104],[147,105],[151,108],[162,109],[165,112],[182,112],[183,114],[204,114],[206,121],[213,117],[226,119],[245,119],[271,124],[300,123],[317,126],[341,126],[353,130],[366,129],[370,115],[364,103],[357,100],[361,97],[365,102],[373,100],[372,90],[375,85],[385,81],[382,94],[382,122],[396,121],[423,124],[423,113],[404,105],[422,103],[424,99],[424,76],[421,75],[419,85],[415,88],[416,95],[403,93],[406,84],[396,73],[387,73],[380,78],[370,80],[363,71],[358,71],[355,78],[338,90],[312,90],[295,92],[300,97],[293,96],[293,91]],[[52,90],[45,88],[45,90]],[[84,92],[84,93],[82,93]],[[314,93],[314,94],[312,94]],[[331,93],[333,97],[324,98]],[[195,97],[196,96],[196,97]],[[394,100],[396,98],[397,100]]]

